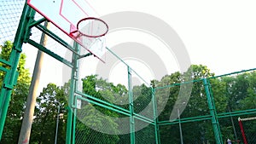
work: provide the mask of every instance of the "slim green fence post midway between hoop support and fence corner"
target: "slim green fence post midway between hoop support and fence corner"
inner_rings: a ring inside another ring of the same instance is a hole
[[[134,122],[134,109],[133,109],[133,94],[131,84],[131,67],[128,68],[128,92],[129,92],[129,108],[130,108],[130,136],[131,144],[135,144],[135,122]]]

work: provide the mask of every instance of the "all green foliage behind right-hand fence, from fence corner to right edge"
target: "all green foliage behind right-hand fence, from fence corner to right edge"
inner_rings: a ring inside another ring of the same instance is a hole
[[[214,73],[210,72],[207,66],[195,66],[189,67],[189,73],[193,73],[193,78],[209,78],[214,76]],[[210,92],[213,96],[214,105],[218,113],[220,112],[232,112],[247,109],[256,108],[256,72],[245,72],[233,77],[223,78],[210,78]],[[186,74],[186,73],[184,73]],[[164,101],[167,101],[166,107],[163,112],[160,113],[160,121],[168,120],[175,101],[177,101],[178,91],[180,86],[177,83],[183,81],[183,75],[181,73],[172,73],[170,76],[165,76],[156,85],[163,86],[165,84],[171,84],[172,86],[165,89],[158,89],[156,95],[158,98],[159,107]],[[155,81],[154,81],[155,82]],[[166,98],[166,94],[170,94]],[[198,116],[209,115],[209,107],[207,104],[207,95],[205,92],[204,84],[202,81],[196,81],[193,83],[192,92],[189,98],[189,102],[186,105],[181,118],[193,118]],[[255,116],[255,115],[254,115]],[[253,117],[247,116],[247,117]],[[233,127],[230,118],[218,118],[221,125],[221,133],[225,139],[230,138],[235,140]],[[237,118],[233,118],[236,133],[240,134],[240,128],[237,126]],[[183,141],[184,143],[215,143],[214,133],[212,129],[211,120],[203,120],[200,122],[184,123],[182,124]],[[176,131],[172,132],[172,131]],[[253,131],[253,125],[247,128],[247,135],[251,135]],[[161,143],[179,143],[178,138],[179,127],[177,124],[165,125],[160,128]],[[241,134],[240,134],[241,135]],[[238,135],[238,136],[240,136]],[[239,138],[239,137],[238,137]],[[239,138],[242,140],[242,138]],[[253,141],[254,142],[254,141]]]

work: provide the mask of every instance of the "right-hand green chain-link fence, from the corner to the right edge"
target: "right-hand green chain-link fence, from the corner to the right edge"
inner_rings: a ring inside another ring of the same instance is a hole
[[[162,110],[160,142],[255,143],[255,73],[252,69],[191,81],[189,101],[179,102],[183,107],[175,107],[181,84],[156,88],[158,111]],[[161,109],[163,101],[167,101],[166,107]],[[177,116],[172,119],[175,111]],[[238,118],[245,118],[243,130]]]

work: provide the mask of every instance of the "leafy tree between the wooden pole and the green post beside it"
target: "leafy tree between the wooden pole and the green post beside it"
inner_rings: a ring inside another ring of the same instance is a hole
[[[60,107],[60,113],[65,114],[65,118],[61,118],[59,121],[57,141],[58,143],[65,143],[67,122],[67,113],[65,110],[67,101],[65,95],[63,87],[57,87],[55,84],[48,84],[40,93],[37,99],[35,118],[32,125],[31,143],[46,144],[55,142],[58,107]]]

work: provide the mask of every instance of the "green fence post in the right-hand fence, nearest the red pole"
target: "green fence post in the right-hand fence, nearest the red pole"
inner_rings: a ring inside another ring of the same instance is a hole
[[[215,140],[217,144],[223,144],[220,127],[218,124],[216,107],[214,105],[213,96],[211,95],[211,92],[210,92],[211,91],[210,84],[207,81],[207,78],[203,78],[203,84],[207,94],[208,107],[210,109],[210,114],[212,116],[212,127],[213,127]]]

